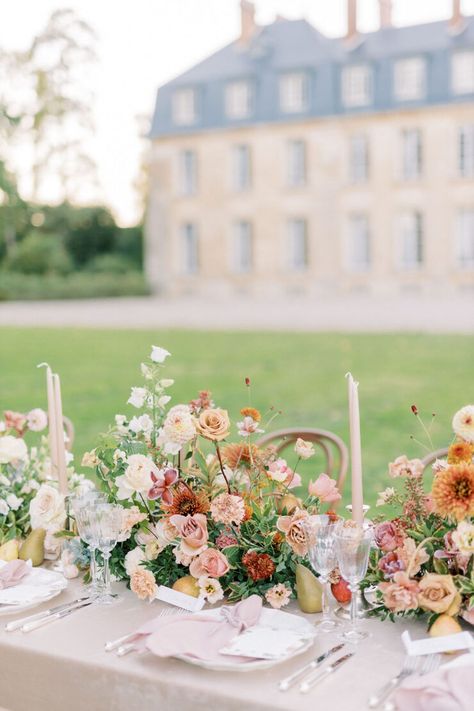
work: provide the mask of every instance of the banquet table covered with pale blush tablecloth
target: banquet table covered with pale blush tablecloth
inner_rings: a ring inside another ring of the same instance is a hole
[[[83,594],[79,580],[50,603]],[[163,603],[144,603],[122,583],[111,606],[91,605],[30,633],[5,632],[0,620],[0,708],[8,711],[265,711],[318,708],[359,711],[367,698],[402,663],[401,632],[406,625],[364,620],[371,636],[333,676],[306,695],[298,686],[285,693],[278,681],[335,643],[337,634],[316,638],[311,650],[265,671],[213,672],[150,653],[117,657],[104,643],[134,630],[159,614]],[[39,607],[33,612],[40,611]],[[298,612],[295,604],[285,611]],[[24,613],[30,614],[28,613]],[[18,617],[18,615],[17,615]],[[317,616],[307,616],[316,619]],[[422,623],[410,623],[413,637],[425,636]]]

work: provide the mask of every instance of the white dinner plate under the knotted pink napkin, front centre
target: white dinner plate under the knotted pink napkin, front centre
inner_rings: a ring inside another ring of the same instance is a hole
[[[199,613],[199,615],[202,614],[209,617],[220,617],[220,608],[207,610],[205,613]],[[202,667],[203,669],[210,669],[212,671],[248,672],[257,671],[259,669],[270,669],[277,664],[281,664],[282,662],[286,662],[289,659],[296,657],[298,654],[306,652],[313,645],[314,638],[316,636],[316,628],[313,624],[308,622],[308,620],[303,617],[299,617],[298,615],[282,612],[281,610],[269,610],[263,608],[258,625],[255,625],[255,627],[267,627],[273,630],[291,630],[292,632],[298,632],[300,636],[300,646],[293,649],[290,653],[278,658],[255,659],[246,663],[238,663],[234,661],[231,656],[224,655],[222,655],[222,661],[220,659],[213,659],[212,661],[196,659],[195,657],[187,656],[185,654],[177,655],[176,659],[181,659],[183,662],[187,662],[188,664],[193,664],[194,666]]]

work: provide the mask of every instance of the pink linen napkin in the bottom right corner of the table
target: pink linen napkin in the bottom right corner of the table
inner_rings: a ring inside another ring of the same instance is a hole
[[[474,654],[463,654],[438,671],[406,679],[395,692],[400,711],[472,711]]]

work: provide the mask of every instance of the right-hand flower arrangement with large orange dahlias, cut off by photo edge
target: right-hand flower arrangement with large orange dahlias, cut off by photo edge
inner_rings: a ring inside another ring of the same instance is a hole
[[[412,411],[420,419],[416,406]],[[419,459],[401,456],[389,465],[403,486],[379,494],[377,505],[396,513],[375,528],[377,549],[365,580],[377,586],[374,614],[392,620],[429,614],[433,634],[457,631],[459,616],[474,624],[474,405],[459,410],[452,425],[455,439],[447,458],[433,464],[430,493]]]

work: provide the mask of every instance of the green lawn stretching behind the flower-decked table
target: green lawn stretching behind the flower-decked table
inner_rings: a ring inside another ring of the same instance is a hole
[[[283,414],[273,427],[307,425],[333,430],[348,440],[344,374],[360,381],[366,500],[388,485],[387,462],[398,454],[420,455],[410,434],[422,437],[410,412],[416,403],[429,421],[436,412],[436,447],[450,439],[451,416],[474,400],[474,343],[469,336],[405,334],[336,335],[0,329],[0,411],[45,407],[48,361],[62,379],[64,410],[76,426],[80,462],[96,435],[140,385],[140,360],[151,344],[173,354],[166,369],[176,379],[173,402],[210,389],[234,418],[247,404],[244,378],[252,380],[252,404]],[[319,465],[315,465],[319,473]]]

